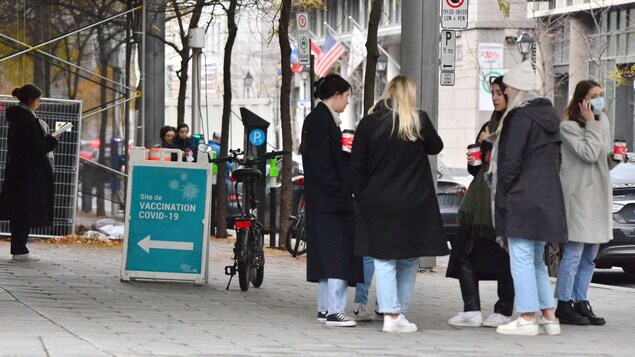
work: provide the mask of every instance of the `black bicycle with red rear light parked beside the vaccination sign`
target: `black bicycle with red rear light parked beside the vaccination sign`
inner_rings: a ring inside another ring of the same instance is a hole
[[[250,284],[260,287],[265,274],[265,253],[264,253],[264,226],[258,221],[256,199],[256,183],[262,177],[262,172],[257,169],[259,163],[282,155],[287,151],[271,151],[264,153],[258,158],[245,156],[240,150],[229,150],[230,155],[212,159],[211,162],[220,164],[223,162],[235,162],[240,168],[232,171],[232,178],[235,179],[235,190],[238,191],[238,184],[242,183],[243,203],[238,202],[240,215],[231,217],[228,228],[236,230],[236,243],[234,243],[234,264],[225,266],[225,275],[229,275],[227,290],[232,282],[232,278],[238,273],[238,282],[242,291],[249,290]],[[242,159],[240,156],[244,156]]]

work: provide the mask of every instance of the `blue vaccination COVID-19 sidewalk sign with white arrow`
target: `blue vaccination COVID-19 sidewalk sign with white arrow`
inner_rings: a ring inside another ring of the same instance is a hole
[[[122,280],[206,281],[211,166],[207,160],[146,160],[145,150],[134,149],[128,180]],[[170,157],[174,149],[164,151]]]

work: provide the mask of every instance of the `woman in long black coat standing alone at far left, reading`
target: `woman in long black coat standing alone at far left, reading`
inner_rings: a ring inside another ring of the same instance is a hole
[[[58,142],[35,117],[42,92],[27,84],[12,94],[20,103],[7,108],[8,157],[0,219],[9,220],[13,260],[39,260],[26,243],[31,228],[53,224],[54,178],[48,155]]]

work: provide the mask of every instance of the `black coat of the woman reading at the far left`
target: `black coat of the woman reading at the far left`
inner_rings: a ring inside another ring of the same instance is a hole
[[[54,177],[46,154],[57,140],[44,135],[35,116],[18,105],[7,108],[7,166],[0,193],[0,219],[30,227],[53,224]]]

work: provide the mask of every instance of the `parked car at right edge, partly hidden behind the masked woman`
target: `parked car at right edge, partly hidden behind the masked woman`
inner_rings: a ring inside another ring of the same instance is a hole
[[[613,184],[613,240],[600,245],[595,258],[597,268],[620,267],[635,278],[635,162],[617,165],[611,170]],[[562,257],[562,245],[545,247],[549,275],[556,276]]]

